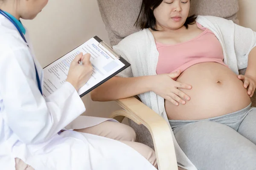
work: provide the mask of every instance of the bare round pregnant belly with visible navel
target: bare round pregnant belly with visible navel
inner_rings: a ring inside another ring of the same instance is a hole
[[[250,96],[243,82],[230,68],[215,62],[204,62],[186,69],[176,80],[192,85],[182,90],[190,96],[185,105],[165,101],[166,113],[172,120],[198,120],[221,116],[245,108]]]

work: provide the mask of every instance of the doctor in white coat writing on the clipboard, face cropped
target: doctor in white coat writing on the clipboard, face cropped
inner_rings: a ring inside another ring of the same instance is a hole
[[[76,56],[62,87],[42,96],[43,71],[19,19],[35,18],[47,2],[0,0],[0,169],[155,170],[154,151],[132,142],[131,127],[79,116],[89,54]]]

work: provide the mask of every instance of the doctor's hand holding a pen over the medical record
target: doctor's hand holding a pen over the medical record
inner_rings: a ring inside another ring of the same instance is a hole
[[[70,82],[78,91],[90,79],[92,73],[90,54],[83,55],[80,53],[71,62],[66,81]]]

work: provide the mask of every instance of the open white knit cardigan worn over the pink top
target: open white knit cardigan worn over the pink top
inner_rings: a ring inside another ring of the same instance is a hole
[[[197,20],[202,26],[209,28],[221,43],[224,63],[239,74],[239,70],[247,67],[248,55],[256,46],[256,32],[250,28],[236,25],[231,20],[213,16],[198,16]],[[131,67],[122,71],[119,77],[139,77],[156,75],[158,51],[151,31],[143,29],[129,35],[118,45],[113,46],[123,58],[131,63]],[[168,118],[164,107],[164,99],[152,91],[138,95],[142,102],[162,116],[166,122]],[[170,126],[172,131],[172,128]],[[177,162],[180,167],[187,170],[196,170],[196,167],[181,150],[172,132]]]

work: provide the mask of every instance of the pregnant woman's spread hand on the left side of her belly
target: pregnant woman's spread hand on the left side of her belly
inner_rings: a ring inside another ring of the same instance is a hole
[[[192,86],[173,80],[179,75],[180,70],[170,74],[156,75],[152,84],[153,86],[151,91],[154,91],[154,93],[172,102],[174,105],[179,105],[179,103],[185,105],[185,100],[189,101],[190,97],[178,88],[189,90],[192,88]]]

